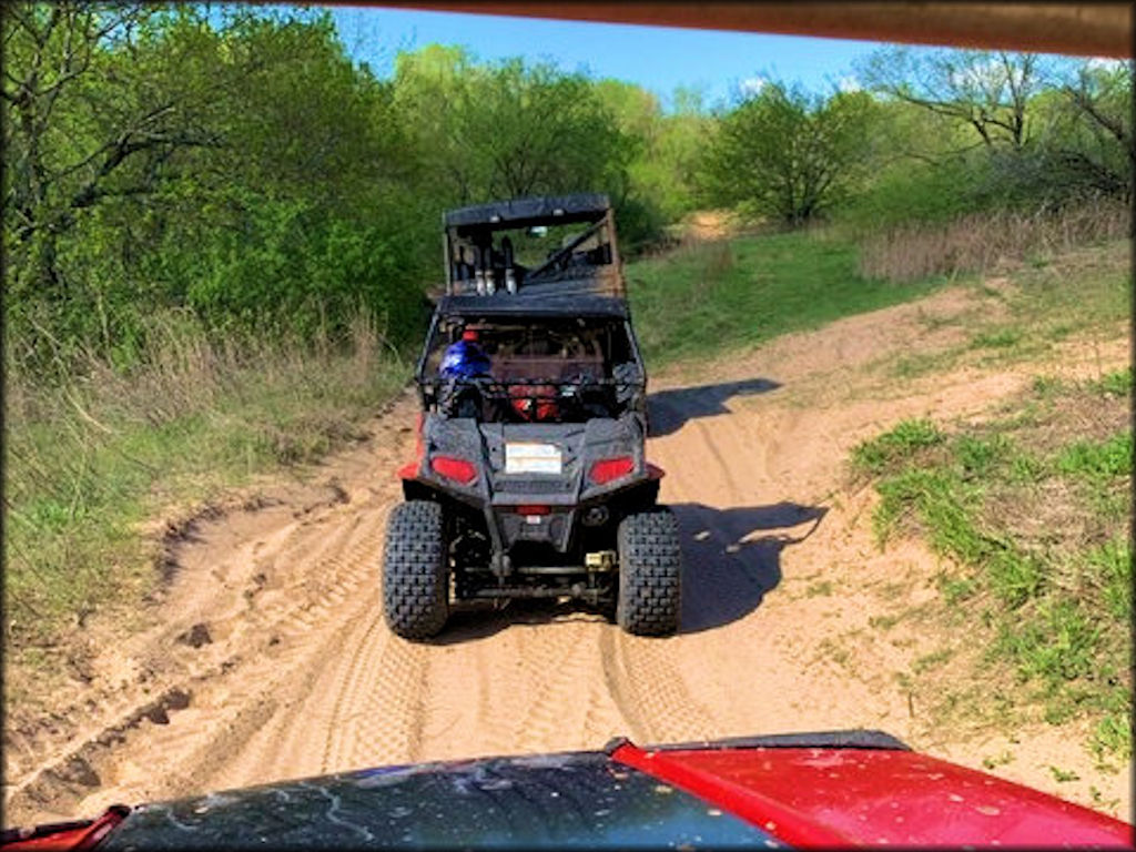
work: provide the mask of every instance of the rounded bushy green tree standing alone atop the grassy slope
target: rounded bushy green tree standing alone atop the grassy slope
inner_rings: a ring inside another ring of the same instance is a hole
[[[703,194],[790,226],[808,223],[860,179],[872,115],[863,92],[824,100],[766,83],[721,118],[703,162]]]

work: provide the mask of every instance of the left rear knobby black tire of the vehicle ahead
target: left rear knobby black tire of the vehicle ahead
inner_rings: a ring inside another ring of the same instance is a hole
[[[408,640],[437,635],[450,616],[449,543],[442,507],[410,500],[391,510],[383,552],[383,616]]]

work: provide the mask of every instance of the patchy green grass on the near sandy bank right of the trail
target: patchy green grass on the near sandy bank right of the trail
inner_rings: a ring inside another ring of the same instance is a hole
[[[903,529],[958,566],[939,576],[943,616],[989,629],[984,665],[1009,667],[1021,703],[1037,702],[1052,724],[1095,720],[1093,749],[1127,759],[1133,576],[1118,515],[1131,511],[1131,431],[1076,437],[1093,394],[1122,421],[1120,376],[1035,382],[1001,419],[957,432],[904,420],[854,448],[851,461],[876,477],[882,545]],[[1104,387],[1111,401],[1101,400]],[[1022,418],[1030,393],[1045,404]],[[1038,506],[1043,537],[1024,536],[1013,518]],[[917,661],[917,674],[927,668]]]

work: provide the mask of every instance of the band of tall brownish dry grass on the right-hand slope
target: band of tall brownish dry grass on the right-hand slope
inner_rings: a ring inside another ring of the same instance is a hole
[[[1005,261],[1047,257],[1131,234],[1131,210],[1096,199],[1033,212],[999,210],[947,224],[905,225],[860,242],[860,274],[911,282],[933,275],[982,273]]]

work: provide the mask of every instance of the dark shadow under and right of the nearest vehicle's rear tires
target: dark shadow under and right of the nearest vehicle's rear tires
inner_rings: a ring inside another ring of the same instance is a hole
[[[679,633],[700,633],[745,618],[780,583],[780,553],[804,541],[828,511],[825,507],[776,503],[715,509],[702,503],[670,507],[683,548],[683,609]],[[602,611],[579,602],[517,600],[503,609],[485,602],[454,604],[434,645],[492,636],[515,626],[553,621],[604,621]]]

